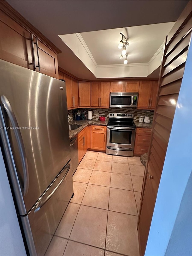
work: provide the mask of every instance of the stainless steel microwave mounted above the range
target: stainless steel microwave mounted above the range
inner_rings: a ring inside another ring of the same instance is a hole
[[[138,92],[111,92],[110,107],[137,107]]]

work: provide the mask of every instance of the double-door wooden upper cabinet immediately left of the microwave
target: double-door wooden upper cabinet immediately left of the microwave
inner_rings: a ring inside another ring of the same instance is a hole
[[[91,82],[91,107],[109,108],[110,82]]]

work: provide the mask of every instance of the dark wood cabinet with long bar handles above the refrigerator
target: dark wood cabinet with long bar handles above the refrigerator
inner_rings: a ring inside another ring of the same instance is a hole
[[[61,51],[6,1],[0,1],[0,58],[58,78]]]

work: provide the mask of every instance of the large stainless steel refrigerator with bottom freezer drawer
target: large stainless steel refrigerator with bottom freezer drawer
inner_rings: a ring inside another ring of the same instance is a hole
[[[1,148],[24,240],[30,255],[44,255],[73,195],[65,82],[0,60],[0,105]]]

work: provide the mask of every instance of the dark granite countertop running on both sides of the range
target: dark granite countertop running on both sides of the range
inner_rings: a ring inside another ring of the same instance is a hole
[[[81,125],[79,128],[75,130],[70,130],[69,131],[69,139],[72,139],[75,135],[77,135],[82,129],[84,129],[88,125],[104,125],[107,126],[108,119],[105,121],[100,121],[98,119],[92,119],[92,120],[79,120],[79,121],[69,121],[69,125]],[[137,121],[134,122],[136,127],[140,128],[152,128],[152,123],[145,124],[145,123],[139,123]]]

